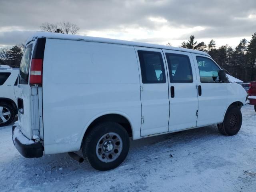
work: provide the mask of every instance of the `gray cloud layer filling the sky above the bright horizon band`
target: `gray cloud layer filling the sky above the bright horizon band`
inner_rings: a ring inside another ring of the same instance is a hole
[[[163,24],[148,18],[161,17],[168,21],[165,25],[174,28],[206,28],[195,32],[196,38],[230,38],[250,36],[256,32],[256,18],[249,19],[250,14],[256,14],[255,0],[2,0],[0,31],[15,26],[31,32],[39,30],[43,22],[61,21],[76,23],[84,32],[128,27],[154,30]],[[0,32],[0,44],[16,44],[30,32]],[[187,39],[188,36],[173,39]]]

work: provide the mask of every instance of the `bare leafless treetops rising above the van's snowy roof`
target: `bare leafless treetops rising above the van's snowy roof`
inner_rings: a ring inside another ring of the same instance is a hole
[[[54,33],[76,34],[80,29],[76,24],[70,22],[43,23],[40,26],[42,31]]]

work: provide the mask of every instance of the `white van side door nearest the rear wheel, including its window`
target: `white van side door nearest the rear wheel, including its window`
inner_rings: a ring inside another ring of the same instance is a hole
[[[134,47],[140,71],[141,136],[168,132],[168,78],[161,49]]]

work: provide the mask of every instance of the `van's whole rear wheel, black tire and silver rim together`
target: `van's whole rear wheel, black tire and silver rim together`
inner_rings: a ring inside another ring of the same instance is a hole
[[[106,171],[124,161],[129,146],[129,136],[123,126],[116,122],[104,122],[94,126],[85,136],[82,152],[93,168]]]

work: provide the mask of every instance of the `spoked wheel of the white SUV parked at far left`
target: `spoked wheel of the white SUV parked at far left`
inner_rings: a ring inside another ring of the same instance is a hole
[[[15,116],[15,110],[12,105],[0,102],[0,127],[9,125]]]

